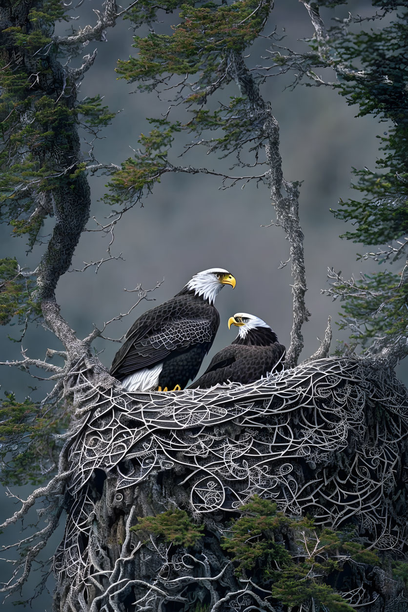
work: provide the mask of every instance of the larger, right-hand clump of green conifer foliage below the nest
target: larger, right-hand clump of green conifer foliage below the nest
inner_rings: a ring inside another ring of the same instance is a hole
[[[313,600],[333,612],[353,608],[330,586],[345,564],[379,564],[376,553],[349,541],[348,532],[318,528],[310,518],[289,517],[276,504],[255,495],[232,521],[221,544],[236,573],[284,605],[308,605]]]

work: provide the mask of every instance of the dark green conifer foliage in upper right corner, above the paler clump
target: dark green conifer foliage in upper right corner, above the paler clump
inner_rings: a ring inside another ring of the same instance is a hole
[[[383,151],[377,160],[379,171],[354,170],[358,180],[353,187],[362,199],[341,202],[335,212],[354,223],[344,236],[366,245],[384,244],[408,231],[407,21],[408,10],[402,9],[389,26],[349,32],[346,39],[333,44],[339,62],[365,73],[364,78],[344,75],[341,94],[347,103],[359,106],[357,116],[373,114],[386,128],[384,136],[379,136]]]

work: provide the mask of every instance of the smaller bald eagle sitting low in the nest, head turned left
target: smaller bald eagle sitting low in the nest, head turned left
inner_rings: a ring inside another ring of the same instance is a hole
[[[209,367],[188,389],[208,389],[216,384],[248,384],[283,368],[286,349],[275,332],[258,316],[239,312],[228,320],[238,335],[230,346],[213,357]]]

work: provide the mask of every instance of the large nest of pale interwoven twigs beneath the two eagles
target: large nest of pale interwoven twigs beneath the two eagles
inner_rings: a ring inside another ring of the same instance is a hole
[[[247,386],[166,394],[95,388],[84,402],[54,566],[70,589],[81,591],[95,575],[95,517],[103,514],[95,491],[102,495],[104,480],[105,501],[126,517],[124,538],[135,500],[148,513],[146,483],[157,492],[160,482],[162,510],[182,506],[217,521],[257,493],[317,524],[352,523],[379,550],[406,546],[408,397],[390,371],[327,358]]]

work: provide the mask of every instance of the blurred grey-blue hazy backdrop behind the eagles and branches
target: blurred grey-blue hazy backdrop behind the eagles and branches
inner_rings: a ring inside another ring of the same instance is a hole
[[[82,28],[87,23],[95,22],[92,9],[100,9],[102,2],[86,0],[72,16],[79,16],[73,21],[73,28]],[[360,15],[371,15],[373,7],[368,0],[349,2],[347,10],[336,7],[330,13],[337,17],[347,16],[347,11]],[[322,17],[328,24],[328,12],[322,10]],[[166,15],[160,24],[161,31],[166,32],[171,24],[177,23],[177,15]],[[382,26],[383,22],[373,27]],[[301,39],[313,34],[313,26],[303,4],[297,0],[276,0],[272,12],[269,31],[276,27],[279,35],[286,38],[282,44],[295,50],[305,50],[306,43]],[[360,27],[360,26],[355,26]],[[58,24],[58,33],[70,28],[70,24]],[[140,35],[147,33],[142,29]],[[267,28],[268,29],[268,28]],[[158,32],[160,29],[157,28]],[[118,20],[113,29],[106,34],[106,42],[91,43],[86,53],[97,48],[98,54],[94,66],[84,75],[78,99],[87,95],[104,95],[104,103],[109,110],[117,113],[112,124],[100,136],[102,140],[94,142],[94,154],[100,163],[120,164],[132,155],[141,132],[148,132],[148,117],[160,117],[165,114],[168,104],[155,94],[135,92],[136,87],[116,80],[117,59],[127,59],[135,54],[132,49],[133,29],[128,21]],[[269,42],[258,40],[250,48],[253,64],[259,56],[265,56]],[[80,59],[75,62],[79,64]],[[75,67],[73,62],[73,67]],[[333,80],[333,75],[325,75]],[[371,116],[355,118],[358,108],[347,106],[346,99],[337,91],[321,86],[299,86],[294,91],[290,84],[292,74],[274,76],[262,86],[265,100],[272,105],[272,112],[280,124],[281,154],[283,171],[286,179],[303,181],[300,190],[300,221],[305,234],[305,265],[308,292],[306,305],[311,318],[303,326],[305,348],[301,359],[314,353],[319,346],[317,336],[322,337],[327,318],[332,316],[333,343],[346,340],[347,336],[339,332],[335,325],[338,319],[339,302],[332,302],[321,295],[321,289],[327,286],[327,267],[334,266],[341,270],[346,278],[360,271],[371,272],[376,263],[356,261],[355,253],[364,253],[369,247],[354,245],[339,238],[346,231],[343,222],[336,220],[330,209],[336,209],[338,199],[347,200],[351,195],[352,167],[374,169],[378,156],[377,135],[387,132],[387,123],[379,123]],[[228,91],[228,90],[227,90]],[[236,94],[232,91],[231,95]],[[176,113],[172,120],[179,118]],[[174,163],[183,163],[177,156],[184,150],[184,135],[174,141],[169,159]],[[89,146],[83,144],[84,155]],[[217,171],[230,168],[231,159],[218,160],[216,156],[206,155],[204,149],[196,147],[190,163],[195,166],[206,165]],[[239,169],[232,170],[232,175],[242,174]],[[107,177],[89,177],[92,190],[93,210],[98,222],[103,223],[111,210],[100,201],[105,190]],[[265,319],[278,334],[281,343],[289,345],[289,334],[292,326],[292,296],[290,266],[279,269],[280,262],[289,256],[289,244],[281,228],[270,225],[274,218],[270,205],[267,187],[251,182],[245,188],[240,186],[220,189],[221,179],[199,174],[165,175],[156,185],[154,193],[143,200],[143,206],[137,204],[117,223],[113,255],[114,259],[103,264],[95,274],[95,266],[85,272],[65,274],[57,288],[57,302],[61,313],[80,337],[88,334],[92,323],[98,327],[103,321],[125,313],[136,301],[137,294],[125,293],[124,288],[134,289],[138,283],[144,289],[150,289],[158,281],[164,283],[154,294],[156,303],[164,302],[173,296],[191,278],[195,272],[209,267],[224,267],[237,279],[234,291],[230,288],[218,296],[217,308],[221,316],[221,325],[213,348],[202,364],[201,372],[207,367],[212,355],[234,338],[234,332],[228,331],[229,316],[243,311],[253,313]],[[50,225],[48,225],[50,223]],[[53,220],[48,220],[42,234],[46,236]],[[88,224],[89,230],[97,228],[94,221]],[[24,264],[26,245],[24,239],[10,236],[10,227],[0,226],[0,257],[15,256]],[[106,255],[110,237],[92,231],[84,233],[76,249],[73,266],[82,268],[83,262],[98,261]],[[34,247],[27,253],[25,261],[28,267],[39,261],[42,245]],[[151,308],[153,302],[143,301],[122,321],[116,321],[106,330],[112,338],[120,338],[133,321],[144,310]],[[9,340],[9,336],[18,340],[21,331],[18,324],[1,327],[1,360],[18,359],[21,343]],[[109,367],[117,343],[97,339],[95,347],[103,350],[101,359]],[[46,348],[61,348],[52,334],[42,327],[33,326],[23,338],[23,348],[30,357],[42,358]],[[407,364],[400,364],[397,373],[405,382]],[[42,373],[39,372],[39,376]],[[33,398],[43,397],[48,387],[17,371],[15,368],[2,368],[0,371],[1,394],[13,391],[18,400],[27,395]],[[34,389],[32,389],[34,387]],[[25,497],[30,487],[21,487],[13,493]],[[1,513],[3,517],[15,510],[13,499],[6,499],[2,494]],[[8,531],[2,536],[2,543],[7,544],[18,537]],[[62,526],[60,526],[62,531]],[[61,533],[57,533],[45,556],[53,554]],[[7,567],[5,571],[10,571]],[[31,577],[25,596],[34,589],[37,579]],[[52,589],[52,581],[50,581]],[[19,597],[10,598],[19,599]],[[2,607],[4,612],[15,610],[10,599]],[[10,602],[10,603],[9,603]],[[50,595],[43,593],[33,603],[35,610],[51,610]]]

